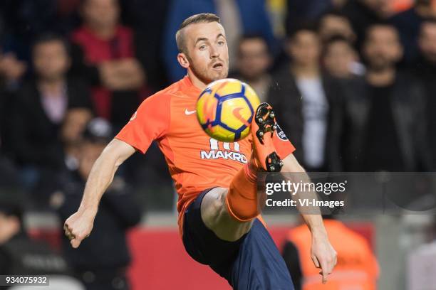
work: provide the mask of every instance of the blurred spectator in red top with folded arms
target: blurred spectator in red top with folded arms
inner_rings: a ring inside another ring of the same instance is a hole
[[[135,58],[133,31],[119,24],[117,0],[85,0],[83,26],[73,31],[73,70],[92,86],[95,113],[116,129],[140,104],[145,72]]]

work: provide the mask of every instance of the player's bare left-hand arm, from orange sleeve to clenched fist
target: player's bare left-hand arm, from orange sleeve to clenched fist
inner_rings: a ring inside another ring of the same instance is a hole
[[[132,146],[113,139],[95,161],[86,181],[81,205],[63,225],[63,230],[74,248],[81,245],[82,240],[90,235],[103,193],[110,186],[118,166],[133,153],[135,149]]]

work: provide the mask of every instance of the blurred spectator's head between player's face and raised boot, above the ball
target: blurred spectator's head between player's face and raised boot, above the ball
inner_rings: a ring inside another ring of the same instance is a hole
[[[269,74],[271,63],[272,55],[265,38],[259,35],[243,36],[239,40],[237,72],[233,77],[251,85],[261,102],[265,102],[272,80]]]

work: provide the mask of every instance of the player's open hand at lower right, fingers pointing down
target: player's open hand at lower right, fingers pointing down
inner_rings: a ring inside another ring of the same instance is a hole
[[[323,276],[323,284],[326,284],[328,275],[336,266],[336,251],[328,241],[326,233],[314,233],[312,235],[311,258],[315,267],[320,268]]]

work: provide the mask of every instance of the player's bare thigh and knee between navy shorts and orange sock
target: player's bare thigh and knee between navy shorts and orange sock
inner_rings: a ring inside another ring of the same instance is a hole
[[[252,220],[239,222],[227,212],[227,188],[213,188],[204,195],[201,205],[204,225],[212,230],[221,240],[234,242],[249,232]]]

